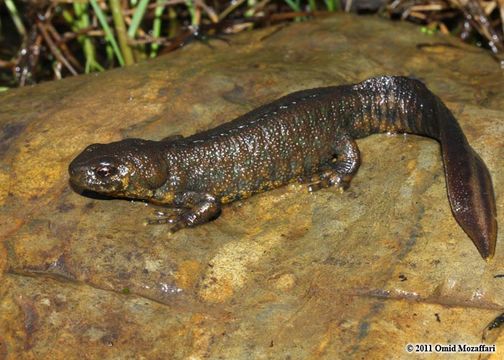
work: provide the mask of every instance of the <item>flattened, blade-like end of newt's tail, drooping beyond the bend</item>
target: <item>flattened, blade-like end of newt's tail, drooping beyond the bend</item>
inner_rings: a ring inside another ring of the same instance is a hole
[[[453,216],[488,260],[495,254],[497,242],[497,209],[490,172],[451,112],[444,105],[441,108],[445,116],[440,120],[439,140]]]

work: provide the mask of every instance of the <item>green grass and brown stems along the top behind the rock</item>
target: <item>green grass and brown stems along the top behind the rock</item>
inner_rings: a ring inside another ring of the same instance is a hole
[[[0,2],[0,86],[4,90],[5,85],[128,66],[194,39],[305,21],[343,9],[359,11],[359,4],[359,0],[5,0]],[[471,0],[466,5],[449,0],[377,1],[371,12],[413,20],[422,24],[419,31],[425,34],[451,33],[488,44],[497,58],[504,51],[504,10],[498,0]],[[5,81],[8,77],[10,81]]]

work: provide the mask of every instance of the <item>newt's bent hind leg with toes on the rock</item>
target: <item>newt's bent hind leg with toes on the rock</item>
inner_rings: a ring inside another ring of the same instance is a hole
[[[335,146],[336,157],[320,168],[311,179],[308,191],[313,192],[330,186],[346,190],[359,169],[361,160],[357,143],[348,135],[338,139]]]

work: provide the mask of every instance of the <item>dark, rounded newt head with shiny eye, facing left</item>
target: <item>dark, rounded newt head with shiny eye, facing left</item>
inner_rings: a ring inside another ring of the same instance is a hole
[[[74,189],[147,199],[166,182],[166,163],[156,142],[126,139],[92,144],[68,167]]]

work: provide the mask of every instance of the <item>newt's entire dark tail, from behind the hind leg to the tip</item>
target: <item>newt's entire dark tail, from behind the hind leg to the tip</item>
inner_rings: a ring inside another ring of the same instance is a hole
[[[490,259],[497,242],[492,179],[452,112],[420,81],[376,78],[355,88],[375,93],[370,97],[374,99],[371,108],[381,114],[374,117],[377,131],[425,135],[439,141],[453,216],[481,256]],[[390,103],[396,106],[391,109]]]

